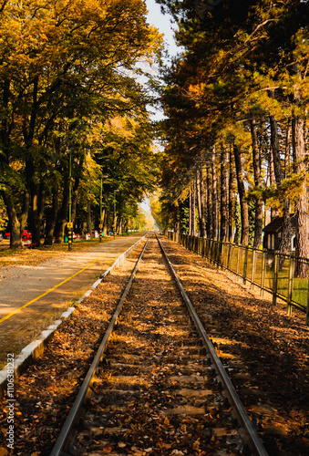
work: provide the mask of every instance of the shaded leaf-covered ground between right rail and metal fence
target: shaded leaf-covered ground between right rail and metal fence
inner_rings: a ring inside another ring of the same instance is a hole
[[[179,244],[171,263],[198,309],[221,358],[240,359],[247,375],[232,377],[271,456],[309,453],[309,326],[286,315],[271,296],[243,286]],[[226,361],[229,364],[228,361]],[[230,371],[232,376],[232,369]]]

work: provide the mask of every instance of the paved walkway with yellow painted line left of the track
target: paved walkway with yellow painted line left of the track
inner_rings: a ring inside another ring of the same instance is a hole
[[[42,330],[86,293],[120,254],[143,234],[96,244],[87,251],[59,256],[36,267],[8,266],[1,270],[0,368],[7,353],[17,355]]]

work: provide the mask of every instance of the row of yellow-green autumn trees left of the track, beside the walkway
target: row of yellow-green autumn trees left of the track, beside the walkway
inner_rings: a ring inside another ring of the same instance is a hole
[[[90,229],[91,207],[99,223],[102,175],[106,223],[115,190],[118,225],[137,217],[157,175],[137,78],[161,52],[146,13],[142,0],[0,2],[0,206],[12,248],[26,227],[36,245],[43,225],[46,244],[62,242],[70,203],[75,226],[88,217]]]

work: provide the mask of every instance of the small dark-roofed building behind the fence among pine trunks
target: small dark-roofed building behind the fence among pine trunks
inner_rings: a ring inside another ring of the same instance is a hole
[[[291,221],[291,251],[295,250],[295,227],[296,222],[294,213],[290,215]],[[263,228],[263,249],[275,251],[279,249],[281,236],[283,233],[283,217],[275,217],[271,223]]]

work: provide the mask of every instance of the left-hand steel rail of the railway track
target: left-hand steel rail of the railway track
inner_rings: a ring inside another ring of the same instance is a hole
[[[53,447],[53,450],[50,453],[50,456],[61,456],[61,455],[66,454],[63,450],[67,444],[67,439],[68,439],[70,432],[73,429],[75,423],[77,422],[77,419],[79,418],[79,411],[82,408],[82,406],[85,402],[85,399],[87,399],[88,391],[91,386],[91,382],[96,375],[96,370],[98,368],[98,365],[103,358],[106,347],[108,346],[108,338],[117,322],[123,302],[126,299],[127,295],[129,294],[129,290],[131,288],[134,277],[135,277],[136,273],[138,272],[139,263],[145,252],[148,242],[149,242],[149,238],[147,239],[147,241],[144,245],[144,248],[143,248],[141,254],[139,255],[139,259],[134,266],[132,274],[129,277],[128,285],[126,286],[123,294],[120,297],[116,311],[109,322],[108,329],[102,339],[102,342],[100,343],[100,346],[98,347],[97,354],[96,354],[94,360],[92,361],[90,368],[88,369],[86,378],[84,379],[84,381],[78,391],[77,398],[75,399],[75,401],[73,403],[72,409],[70,410],[69,414],[67,415],[67,420],[65,421],[65,424],[57,438],[57,441]]]

